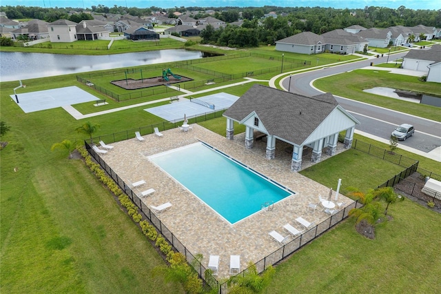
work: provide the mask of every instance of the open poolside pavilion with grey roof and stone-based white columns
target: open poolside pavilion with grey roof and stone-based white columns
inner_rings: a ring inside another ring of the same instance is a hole
[[[255,131],[265,135],[267,159],[274,159],[278,141],[291,144],[292,171],[301,169],[303,150],[307,148],[312,149],[314,162],[320,161],[323,150],[335,155],[342,131],[346,131],[345,148],[350,148],[355,126],[360,124],[330,93],[306,97],[258,84],[223,116],[227,118],[227,139],[234,138],[234,121],[246,126],[245,148],[253,148]]]

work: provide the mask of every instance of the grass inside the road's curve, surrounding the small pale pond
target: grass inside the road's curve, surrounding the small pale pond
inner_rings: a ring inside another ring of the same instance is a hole
[[[351,81],[351,83],[348,83]],[[314,81],[314,86],[334,95],[350,97],[353,100],[362,101],[376,106],[382,106],[393,110],[409,113],[434,121],[441,121],[438,107],[424,104],[414,104],[380,95],[363,92],[363,89],[373,87],[390,87],[401,90],[423,92],[428,95],[439,95],[441,84],[420,81],[418,77],[406,75],[391,75],[384,70],[353,70],[340,75],[333,75]]]

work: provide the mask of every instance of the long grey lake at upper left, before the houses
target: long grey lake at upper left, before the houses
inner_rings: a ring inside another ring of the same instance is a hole
[[[0,81],[52,77],[76,72],[144,66],[147,64],[198,59],[202,57],[204,57],[204,53],[201,51],[183,49],[93,56],[0,52]]]

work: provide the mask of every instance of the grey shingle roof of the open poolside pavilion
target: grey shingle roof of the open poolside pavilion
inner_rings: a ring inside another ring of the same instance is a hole
[[[306,97],[256,84],[224,115],[242,121],[256,112],[269,135],[301,145],[336,107],[331,93]]]

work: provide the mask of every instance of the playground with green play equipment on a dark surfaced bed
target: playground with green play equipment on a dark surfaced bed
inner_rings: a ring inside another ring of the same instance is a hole
[[[127,75],[126,75],[127,77]],[[111,84],[115,86],[119,86],[125,90],[136,90],[142,88],[150,88],[156,86],[165,86],[168,84],[176,84],[181,83],[183,81],[193,81],[189,77],[183,77],[179,75],[174,75],[170,68],[163,69],[163,75],[161,77],[150,77],[150,78],[141,78],[141,79],[119,79],[116,81],[111,81]]]

